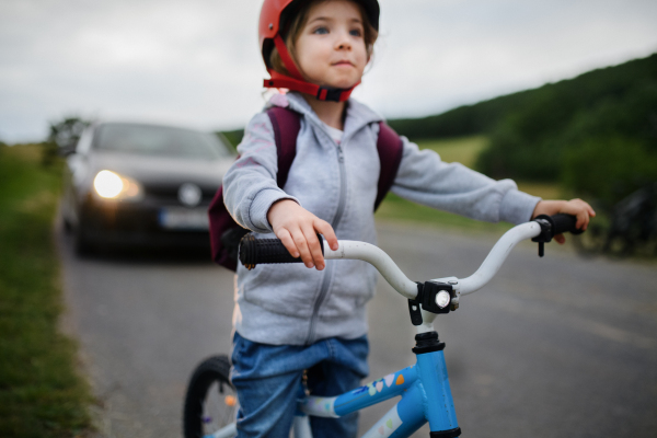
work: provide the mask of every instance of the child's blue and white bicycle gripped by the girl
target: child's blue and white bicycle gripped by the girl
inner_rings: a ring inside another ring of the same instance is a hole
[[[454,438],[461,435],[449,385],[445,361],[445,343],[434,330],[439,314],[459,309],[462,296],[485,286],[502,267],[519,242],[531,239],[539,243],[539,256],[544,243],[563,232],[580,233],[575,218],[567,215],[539,216],[530,222],[507,231],[493,246],[479,269],[470,277],[442,277],[425,283],[408,279],[392,258],[379,247],[366,242],[338,241],[333,251],[321,235],[326,260],[354,258],[372,264],[400,295],[408,300],[411,323],[416,326],[416,364],[338,396],[309,395],[299,388],[295,438],[311,438],[309,416],[339,417],[394,396],[401,400],[362,438],[410,437],[429,423],[431,438]],[[240,244],[240,262],[247,268],[261,263],[296,263],[277,239],[256,240],[247,234]],[[214,356],[194,371],[184,405],[185,438],[230,438],[237,434],[238,399],[229,380],[227,356]]]

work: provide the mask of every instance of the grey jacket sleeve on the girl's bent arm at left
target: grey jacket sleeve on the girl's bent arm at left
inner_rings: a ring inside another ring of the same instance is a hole
[[[278,157],[274,129],[266,113],[256,114],[238,146],[240,158],[223,176],[223,203],[240,226],[272,232],[267,211],[280,199],[292,199],[276,183]]]

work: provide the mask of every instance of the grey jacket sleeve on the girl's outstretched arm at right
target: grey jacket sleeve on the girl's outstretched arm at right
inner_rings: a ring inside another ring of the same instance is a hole
[[[402,137],[402,161],[391,191],[408,200],[488,222],[522,223],[541,198],[519,192],[511,180],[495,181],[460,163],[446,163]]]

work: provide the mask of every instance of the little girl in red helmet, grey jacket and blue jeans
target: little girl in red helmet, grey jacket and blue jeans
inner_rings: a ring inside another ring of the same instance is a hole
[[[297,154],[278,187],[274,128],[266,113],[255,115],[223,178],[223,195],[238,223],[258,238],[274,233],[306,267],[238,268],[231,379],[240,437],[288,436],[304,370],[310,391],[326,396],[357,388],[368,373],[365,304],[376,270],[359,261],[325,263],[316,233],[334,250],[336,235],[376,243],[381,117],[349,94],[372,56],[378,26],[376,0],[263,4],[261,49],[272,76],[265,87],[290,90],[268,106],[300,114]],[[566,212],[585,229],[595,216],[583,200],[541,200],[510,180],[493,181],[402,140],[391,189],[407,199],[492,222]],[[311,426],[315,438],[354,437],[357,416],[313,417]]]

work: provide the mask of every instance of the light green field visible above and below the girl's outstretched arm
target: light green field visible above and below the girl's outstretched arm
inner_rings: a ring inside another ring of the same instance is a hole
[[[485,136],[460,137],[440,140],[418,141],[420,149],[431,149],[440,155],[442,161],[459,162],[469,168],[474,165],[476,158],[488,145]],[[522,183],[518,182],[518,188],[544,199],[558,199],[560,191],[556,184]],[[457,227],[468,230],[480,230],[502,232],[511,226],[508,223],[487,223],[463,218],[446,211],[438,211],[429,207],[420,206],[402,199],[396,195],[389,194],[377,211],[378,220],[393,220],[405,222],[422,222],[439,227]]]

